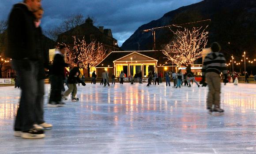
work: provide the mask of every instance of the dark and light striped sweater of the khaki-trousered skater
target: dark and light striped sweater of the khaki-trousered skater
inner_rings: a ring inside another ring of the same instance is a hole
[[[211,52],[203,60],[202,75],[207,72],[215,72],[220,74],[228,73],[226,68],[226,59],[222,53]]]

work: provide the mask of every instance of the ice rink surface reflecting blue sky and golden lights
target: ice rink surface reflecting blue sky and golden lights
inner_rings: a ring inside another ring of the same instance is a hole
[[[0,87],[0,154],[256,154],[256,84],[222,85],[224,115],[207,113],[207,89],[87,84],[49,108],[46,84],[53,128],[31,140],[13,136],[20,90]]]

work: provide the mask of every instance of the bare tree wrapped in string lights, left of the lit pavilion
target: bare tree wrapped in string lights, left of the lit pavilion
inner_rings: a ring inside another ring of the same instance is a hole
[[[76,66],[78,62],[83,62],[83,65],[87,67],[88,76],[90,74],[90,68],[96,66],[105,56],[105,50],[101,43],[95,41],[86,43],[83,39],[74,38],[74,45],[63,44],[67,47],[67,63]]]

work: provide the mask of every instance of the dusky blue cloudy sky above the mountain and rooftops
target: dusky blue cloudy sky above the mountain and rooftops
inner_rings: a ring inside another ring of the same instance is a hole
[[[13,4],[22,0],[0,0],[0,20],[7,19]],[[71,14],[96,18],[96,26],[112,29],[119,46],[141,25],[165,13],[202,0],[42,0],[42,28],[56,27]]]

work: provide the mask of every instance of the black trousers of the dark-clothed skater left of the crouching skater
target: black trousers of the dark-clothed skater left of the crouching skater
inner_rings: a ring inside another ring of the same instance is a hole
[[[50,75],[51,94],[49,102],[60,102],[63,87],[63,77],[61,75]]]

